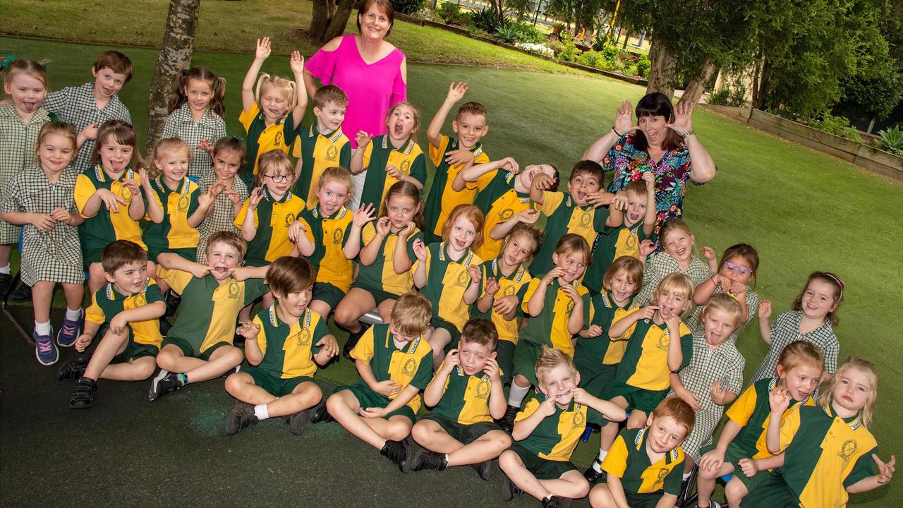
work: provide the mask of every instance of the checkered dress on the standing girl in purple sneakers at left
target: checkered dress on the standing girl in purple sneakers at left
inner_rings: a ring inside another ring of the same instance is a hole
[[[41,165],[31,165],[10,181],[0,212],[50,213],[75,208],[75,181],[79,174],[72,166],[62,171],[57,183],[50,183]],[[79,231],[75,226],[57,222],[50,231],[31,224],[23,227],[22,279],[33,286],[39,280],[82,284],[85,272],[81,265]]]

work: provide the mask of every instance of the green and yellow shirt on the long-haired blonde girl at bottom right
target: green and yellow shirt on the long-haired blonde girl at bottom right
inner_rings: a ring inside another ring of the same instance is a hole
[[[784,466],[777,472],[804,507],[846,506],[846,488],[876,474],[871,454],[878,441],[859,415],[848,419],[833,408],[802,406],[781,422]]]

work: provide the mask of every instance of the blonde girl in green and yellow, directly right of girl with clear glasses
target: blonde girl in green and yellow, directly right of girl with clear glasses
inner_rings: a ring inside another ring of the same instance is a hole
[[[351,286],[354,264],[360,251],[360,229],[373,221],[373,208],[350,212],[351,174],[328,167],[313,188],[313,209],[302,209],[289,230],[297,249],[317,270],[311,309],[327,318]],[[373,307],[370,307],[373,308]]]

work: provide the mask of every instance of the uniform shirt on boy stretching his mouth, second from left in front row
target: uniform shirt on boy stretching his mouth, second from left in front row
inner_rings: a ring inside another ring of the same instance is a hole
[[[231,344],[238,312],[270,290],[262,278],[228,278],[219,284],[209,274],[195,278],[166,268],[157,268],[157,278],[182,295],[182,309],[191,309],[179,314],[166,337],[182,339],[200,353],[215,343]]]

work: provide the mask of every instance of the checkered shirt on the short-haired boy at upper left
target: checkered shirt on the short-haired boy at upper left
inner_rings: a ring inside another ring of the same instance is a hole
[[[79,132],[93,122],[98,122],[98,127],[107,120],[123,120],[132,123],[132,115],[129,114],[126,105],[119,100],[118,95],[110,98],[107,106],[98,109],[98,101],[94,99],[94,82],[52,92],[44,99],[43,107],[59,116],[61,121],[74,125]],[[91,164],[94,146],[95,140],[88,139],[79,148],[79,154],[72,163],[79,173],[94,166]]]

